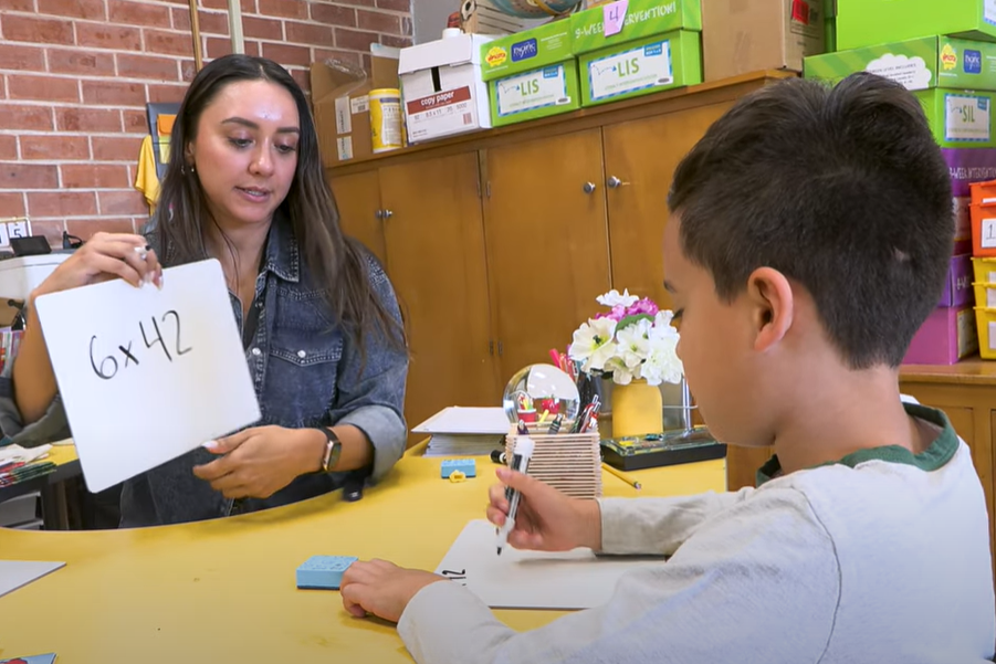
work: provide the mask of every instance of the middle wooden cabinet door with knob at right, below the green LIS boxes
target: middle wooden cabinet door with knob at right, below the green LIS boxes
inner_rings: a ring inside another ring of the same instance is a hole
[[[484,224],[501,379],[549,361],[609,288],[599,129],[492,148]],[[588,185],[586,189],[586,185]]]

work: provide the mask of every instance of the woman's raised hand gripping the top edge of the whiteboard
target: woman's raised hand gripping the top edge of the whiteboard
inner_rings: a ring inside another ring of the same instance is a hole
[[[130,233],[96,233],[55,268],[31,294],[59,293],[120,277],[133,286],[162,285],[162,267],[145,238]]]

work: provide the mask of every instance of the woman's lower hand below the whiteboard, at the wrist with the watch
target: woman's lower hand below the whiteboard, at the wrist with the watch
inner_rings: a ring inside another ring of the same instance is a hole
[[[193,474],[226,498],[269,498],[322,464],[322,450],[306,429],[256,426],[205,447],[223,456],[195,466]]]

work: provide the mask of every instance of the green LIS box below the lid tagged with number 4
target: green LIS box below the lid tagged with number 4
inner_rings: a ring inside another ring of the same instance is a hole
[[[677,30],[580,55],[581,106],[701,83],[699,34]]]

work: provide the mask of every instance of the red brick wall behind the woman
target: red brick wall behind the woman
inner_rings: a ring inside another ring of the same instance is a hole
[[[206,61],[231,52],[227,0],[198,0]],[[245,52],[359,64],[411,42],[410,0],[241,0]],[[368,56],[367,56],[368,60]],[[34,234],[134,231],[147,102],[179,102],[195,73],[188,0],[0,0],[0,219]]]

